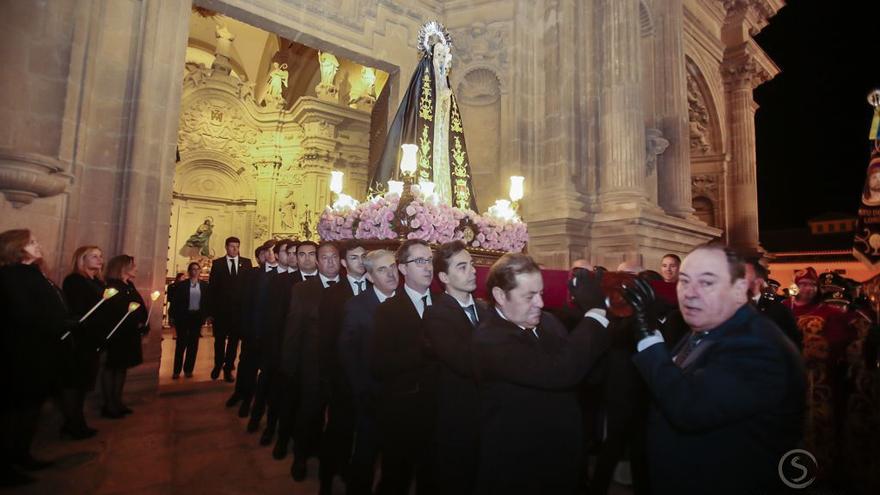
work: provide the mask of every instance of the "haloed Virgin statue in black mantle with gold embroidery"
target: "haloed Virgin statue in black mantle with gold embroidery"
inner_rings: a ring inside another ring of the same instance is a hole
[[[416,182],[433,182],[442,202],[476,211],[464,128],[449,85],[452,39],[442,24],[430,21],[419,30],[418,44],[421,59],[388,129],[370,191],[399,178],[400,145],[415,144]]]

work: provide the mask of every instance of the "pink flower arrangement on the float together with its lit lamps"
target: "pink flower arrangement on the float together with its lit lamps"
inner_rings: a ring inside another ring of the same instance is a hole
[[[406,170],[403,163],[401,169]],[[388,192],[360,203],[342,193],[342,177],[342,172],[331,173],[336,200],[318,220],[321,239],[422,239],[431,244],[462,240],[469,247],[497,252],[521,252],[528,243],[527,225],[517,214],[522,177],[511,177],[510,201],[497,200],[483,214],[440,202],[432,183],[411,180],[389,181]]]

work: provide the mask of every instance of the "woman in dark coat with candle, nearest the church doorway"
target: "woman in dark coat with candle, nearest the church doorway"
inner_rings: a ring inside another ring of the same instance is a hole
[[[108,299],[100,309],[102,320],[109,325],[110,331],[125,316],[131,303],[140,306],[125,318],[113,335],[104,341],[107,359],[104,361],[104,372],[101,375],[101,391],[104,395],[104,407],[101,415],[107,418],[121,418],[131,413],[131,409],[122,403],[122,389],[125,386],[125,375],[128,368],[133,368],[144,361],[141,350],[141,336],[147,329],[147,308],[144,300],[134,286],[137,277],[137,265],[134,258],[126,254],[113,257],[107,263],[105,279],[107,287],[119,293]]]

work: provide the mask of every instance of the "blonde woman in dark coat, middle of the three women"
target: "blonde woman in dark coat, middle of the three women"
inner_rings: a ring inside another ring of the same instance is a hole
[[[101,280],[103,268],[104,254],[99,247],[81,246],[74,251],[70,274],[65,277],[62,286],[71,317],[77,321],[101,300],[104,293],[104,281]],[[69,348],[70,352],[64,360],[66,366],[61,373],[62,435],[82,439],[97,433],[86,424],[83,407],[86,394],[95,388],[98,377],[99,355],[96,349],[110,331],[105,326],[98,313],[92,313],[68,337],[72,347]]]

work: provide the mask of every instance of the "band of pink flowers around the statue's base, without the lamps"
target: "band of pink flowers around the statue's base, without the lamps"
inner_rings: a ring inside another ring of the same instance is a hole
[[[397,219],[400,196],[387,193],[360,203],[353,209],[327,207],[318,221],[318,234],[328,241],[344,239],[396,239],[407,232],[408,239],[422,239],[442,244],[464,239],[464,227],[476,226],[470,246],[495,251],[520,252],[529,240],[526,224],[491,215],[479,215],[447,204],[425,200],[418,189],[414,198]]]

